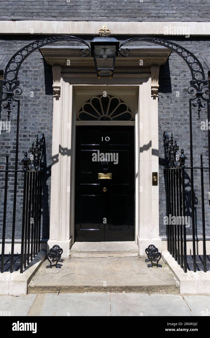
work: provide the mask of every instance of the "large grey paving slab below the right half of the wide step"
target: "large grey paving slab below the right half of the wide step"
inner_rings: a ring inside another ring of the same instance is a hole
[[[132,293],[111,294],[111,315],[157,317],[193,316],[185,300],[180,295]]]

